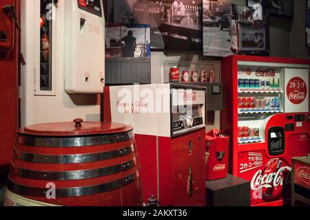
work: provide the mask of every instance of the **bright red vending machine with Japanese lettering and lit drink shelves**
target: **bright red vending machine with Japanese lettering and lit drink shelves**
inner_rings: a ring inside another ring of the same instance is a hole
[[[310,61],[223,58],[221,129],[230,173],[251,181],[251,206],[289,204],[291,158],[310,152]]]

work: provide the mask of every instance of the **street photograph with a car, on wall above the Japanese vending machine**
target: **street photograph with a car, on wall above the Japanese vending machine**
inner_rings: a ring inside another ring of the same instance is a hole
[[[268,56],[269,22],[254,20],[254,8],[219,1],[203,1],[203,55]]]

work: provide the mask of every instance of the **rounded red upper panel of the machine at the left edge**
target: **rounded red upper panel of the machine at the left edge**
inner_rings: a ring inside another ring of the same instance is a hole
[[[14,47],[14,28],[17,13],[13,0],[0,1],[0,51],[12,50]]]

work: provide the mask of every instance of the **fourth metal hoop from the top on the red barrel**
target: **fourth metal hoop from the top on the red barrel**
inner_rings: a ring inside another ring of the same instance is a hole
[[[83,186],[74,188],[56,188],[56,198],[59,197],[80,197],[84,195],[94,195],[102,192],[108,192],[115,190],[116,188],[121,188],[131,184],[139,177],[138,170],[136,170],[132,175],[129,175],[123,179],[117,179],[116,181],[111,181],[109,183],[95,185],[95,186]],[[49,188],[34,188],[30,186],[23,186],[14,183],[10,178],[7,184],[8,190],[19,195],[29,195],[33,197],[46,197]],[[87,201],[85,201],[87,202]]]

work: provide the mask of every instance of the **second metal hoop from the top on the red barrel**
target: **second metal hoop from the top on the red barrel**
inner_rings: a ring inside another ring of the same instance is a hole
[[[136,147],[134,144],[125,148],[114,151],[106,151],[102,153],[74,154],[74,155],[39,155],[32,153],[23,153],[14,149],[14,156],[24,162],[32,162],[36,164],[79,164],[88,162],[97,162],[107,159],[115,159],[134,153]]]

